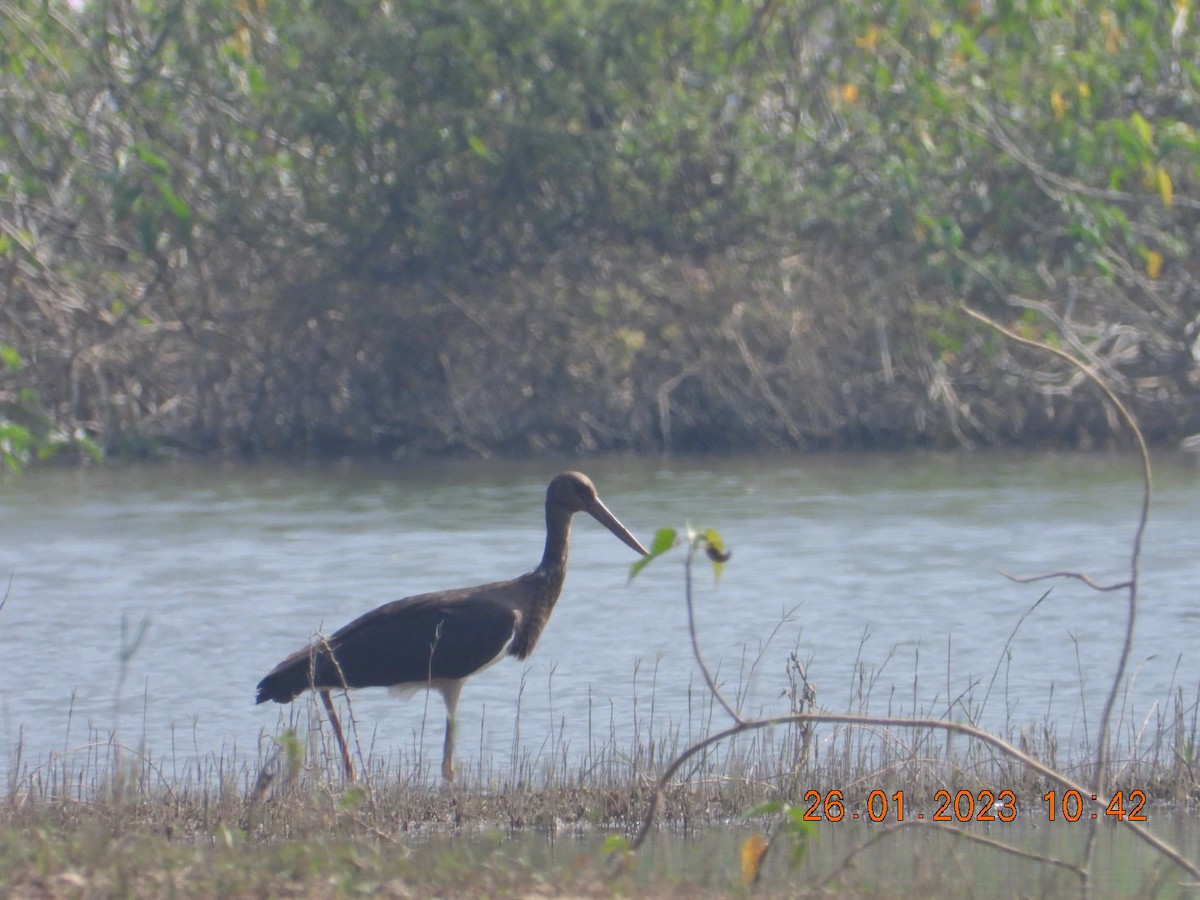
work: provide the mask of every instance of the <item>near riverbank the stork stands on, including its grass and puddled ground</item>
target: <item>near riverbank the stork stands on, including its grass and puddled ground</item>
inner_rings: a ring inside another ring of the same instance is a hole
[[[182,773],[115,743],[30,767],[0,802],[7,895],[684,898],[744,896],[751,881],[756,896],[973,896],[980,884],[1061,894],[1080,888],[1088,835],[1099,832],[1105,850],[1086,877],[1103,898],[1186,877],[1128,820],[1187,858],[1200,853],[1187,767],[1122,760],[1117,817],[980,745],[947,764],[948,742],[913,743],[919,734],[907,730],[847,727],[832,744],[845,750],[820,761],[761,744],[715,754],[672,780],[636,852],[653,785],[612,773],[653,746],[612,748],[570,772],[482,767],[454,786],[436,764],[392,770],[367,760],[349,785],[336,752],[312,755],[281,737],[265,757],[226,754]],[[1159,740],[1177,738],[1147,736]],[[1022,750],[1054,755],[1038,742]],[[1063,762],[1066,772],[1090,766]],[[1004,791],[1000,805],[985,799]],[[805,830],[784,827],[781,804],[810,818]],[[748,866],[746,847],[761,840],[768,856]]]

